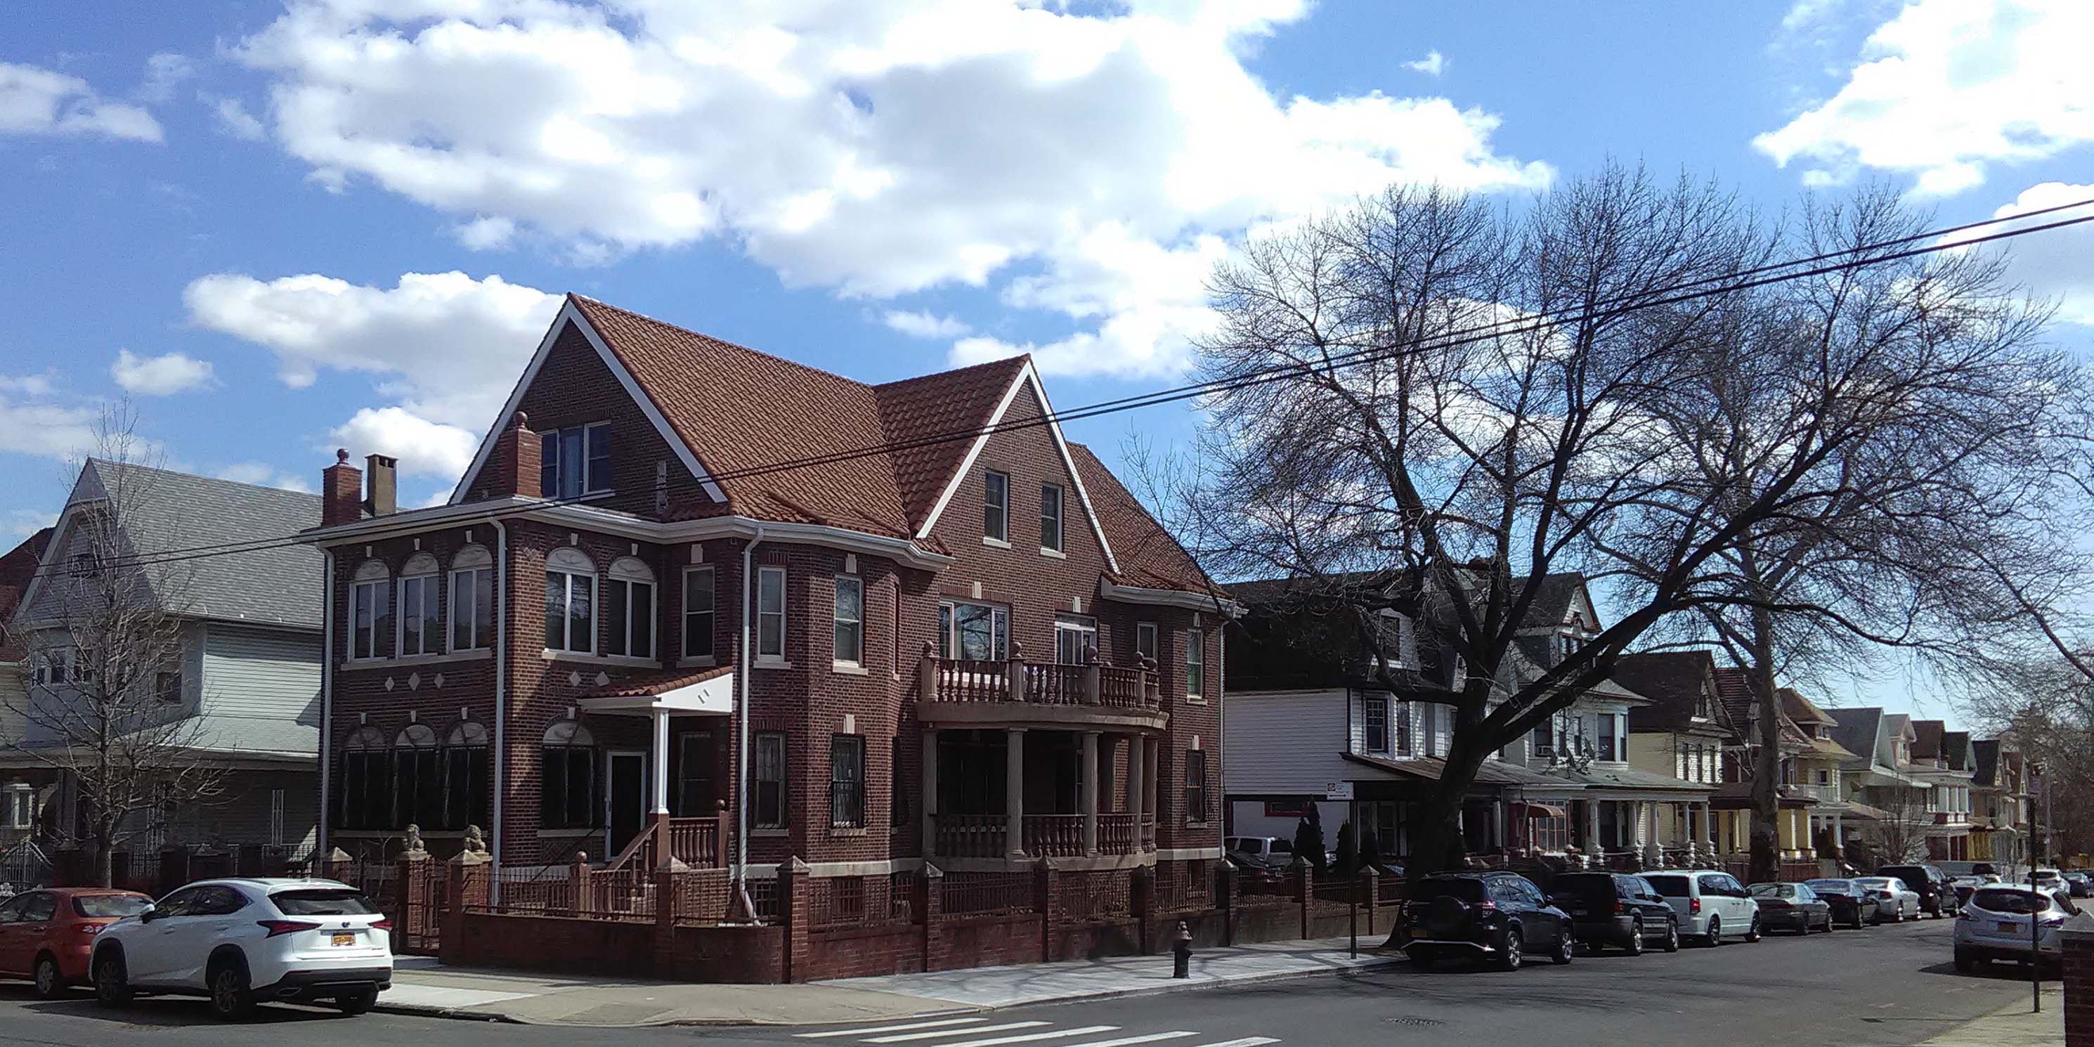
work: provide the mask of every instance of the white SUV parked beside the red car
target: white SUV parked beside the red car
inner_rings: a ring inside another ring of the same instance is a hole
[[[94,938],[94,997],[205,995],[220,1018],[258,1001],[331,999],[369,1011],[392,986],[392,921],[333,879],[205,879]]]

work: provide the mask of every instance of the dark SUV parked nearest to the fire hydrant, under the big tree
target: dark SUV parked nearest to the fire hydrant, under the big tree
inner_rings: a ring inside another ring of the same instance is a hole
[[[1575,942],[1570,915],[1520,873],[1436,873],[1403,907],[1403,951],[1420,967],[1468,955],[1512,972],[1527,951],[1570,963]]]

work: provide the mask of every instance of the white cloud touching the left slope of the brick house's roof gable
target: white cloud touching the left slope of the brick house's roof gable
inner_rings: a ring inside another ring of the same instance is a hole
[[[398,404],[358,410],[327,446],[398,454],[402,469],[429,475],[463,473],[561,304],[465,272],[408,272],[392,289],[222,272],[182,297],[191,322],[274,352],[285,385],[312,385],[320,371],[373,375]]]

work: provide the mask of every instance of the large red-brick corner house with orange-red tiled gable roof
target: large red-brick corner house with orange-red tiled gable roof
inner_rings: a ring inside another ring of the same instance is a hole
[[[496,890],[1221,854],[1229,605],[1030,358],[867,385],[570,295],[446,505],[339,459],[329,848],[486,827]]]

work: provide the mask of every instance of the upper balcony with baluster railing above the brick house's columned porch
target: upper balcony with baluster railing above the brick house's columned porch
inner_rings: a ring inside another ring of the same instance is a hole
[[[1168,714],[1152,666],[1081,666],[1009,660],[938,658],[923,645],[917,662],[917,718],[944,727],[1110,727],[1162,731]]]

